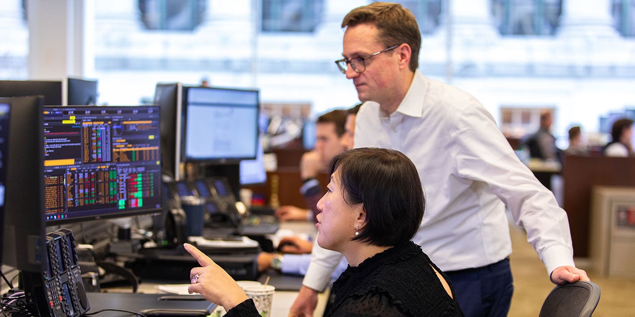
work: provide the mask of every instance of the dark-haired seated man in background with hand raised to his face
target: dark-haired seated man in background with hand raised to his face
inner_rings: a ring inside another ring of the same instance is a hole
[[[323,195],[318,174],[326,170],[326,166],[335,155],[344,151],[345,122],[346,110],[333,110],[318,117],[315,148],[304,153],[300,159],[300,193],[311,210],[291,205],[280,206],[276,210],[278,219],[315,221],[318,214],[316,204]]]

